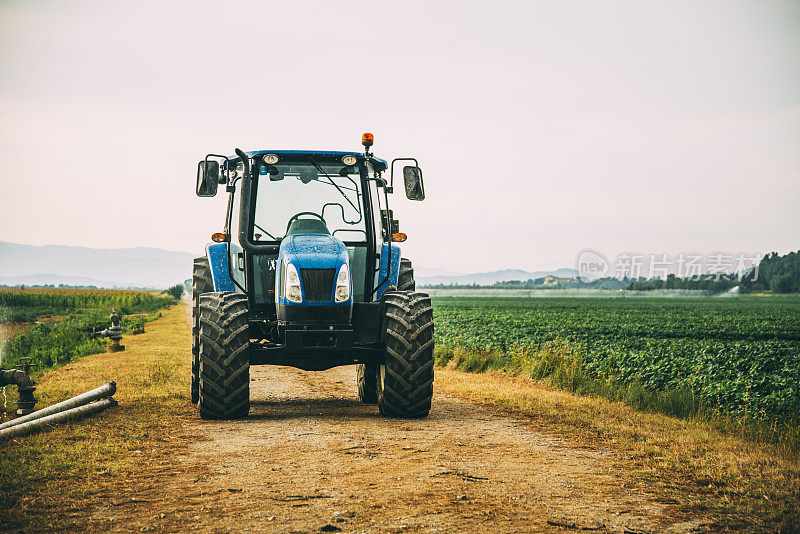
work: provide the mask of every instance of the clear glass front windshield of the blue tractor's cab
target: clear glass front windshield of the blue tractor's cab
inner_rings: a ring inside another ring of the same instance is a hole
[[[354,167],[278,163],[263,167],[257,182],[255,241],[280,241],[298,233],[367,240],[360,176]]]

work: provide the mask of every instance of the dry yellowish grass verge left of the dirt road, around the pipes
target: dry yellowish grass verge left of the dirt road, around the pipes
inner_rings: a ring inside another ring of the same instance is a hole
[[[81,521],[85,527],[82,511],[91,498],[142,483],[145,462],[152,467],[185,446],[179,430],[191,414],[185,306],[163,312],[147,333],[124,337],[124,352],[80,358],[38,379],[39,408],[109,380],[117,382],[119,406],[0,444],[0,525],[64,530]]]

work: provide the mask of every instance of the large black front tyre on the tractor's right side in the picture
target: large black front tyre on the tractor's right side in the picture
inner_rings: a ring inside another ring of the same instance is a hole
[[[433,307],[416,291],[384,296],[386,363],[378,373],[378,409],[388,417],[425,417],[433,397]]]

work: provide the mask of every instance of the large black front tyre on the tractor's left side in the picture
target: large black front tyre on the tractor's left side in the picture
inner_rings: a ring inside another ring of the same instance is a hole
[[[200,297],[200,380],[203,419],[239,419],[250,411],[250,325],[247,297]]]

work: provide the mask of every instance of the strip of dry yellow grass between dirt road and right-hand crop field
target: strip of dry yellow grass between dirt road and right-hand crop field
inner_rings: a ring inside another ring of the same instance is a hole
[[[638,478],[688,515],[702,511],[719,527],[800,531],[800,463],[768,445],[702,420],[644,413],[501,373],[439,368],[436,390],[522,413],[544,432],[618,449]]]

